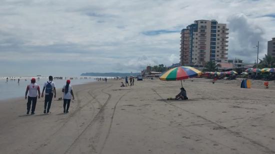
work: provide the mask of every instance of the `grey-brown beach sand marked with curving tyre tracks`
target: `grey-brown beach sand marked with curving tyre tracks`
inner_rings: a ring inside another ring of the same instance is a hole
[[[275,153],[273,81],[269,89],[263,81],[251,89],[240,80],[182,83],[186,101],[166,100],[180,81],[76,85],[67,114],[57,100],[48,115],[43,99],[34,115],[23,98],[1,101],[0,153]]]

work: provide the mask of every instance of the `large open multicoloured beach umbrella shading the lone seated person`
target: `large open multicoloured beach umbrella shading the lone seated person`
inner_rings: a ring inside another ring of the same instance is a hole
[[[159,75],[160,80],[181,80],[201,75],[202,72],[190,66],[171,68]],[[181,82],[182,86],[182,82]]]

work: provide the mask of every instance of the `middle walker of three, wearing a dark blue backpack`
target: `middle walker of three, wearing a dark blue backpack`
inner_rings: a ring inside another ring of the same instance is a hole
[[[54,98],[56,97],[55,83],[52,81],[52,76],[48,76],[48,81],[44,83],[41,97],[43,97],[43,93],[45,90],[45,102],[44,102],[44,113],[49,112],[49,108],[51,105],[51,100],[54,92]],[[46,112],[47,109],[47,112]]]

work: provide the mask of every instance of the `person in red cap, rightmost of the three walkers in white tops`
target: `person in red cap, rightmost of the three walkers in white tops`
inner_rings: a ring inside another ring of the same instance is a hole
[[[64,113],[68,112],[71,96],[72,96],[72,99],[74,99],[72,87],[71,87],[71,85],[69,85],[69,83],[70,83],[70,80],[68,79],[66,81],[66,84],[62,88],[62,92],[64,92],[64,96],[63,96],[63,109],[64,109],[63,112]]]

